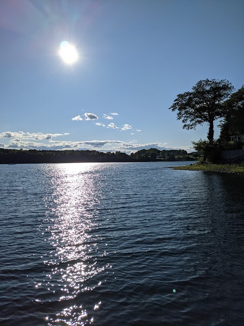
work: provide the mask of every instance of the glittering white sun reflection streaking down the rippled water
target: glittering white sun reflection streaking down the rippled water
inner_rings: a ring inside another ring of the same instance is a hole
[[[82,303],[82,293],[101,285],[99,273],[106,268],[101,265],[101,259],[98,263],[106,251],[99,249],[102,238],[96,235],[99,227],[96,210],[101,198],[101,181],[96,178],[99,166],[96,163],[59,164],[45,166],[45,169],[51,180],[50,196],[45,199],[46,230],[53,250],[44,261],[51,267],[44,283],[46,281],[48,291],[53,292],[53,301],[68,303],[55,318],[48,316],[47,324],[92,323],[94,317],[77,303]],[[97,310],[100,305],[101,302],[90,303],[88,310]]]

